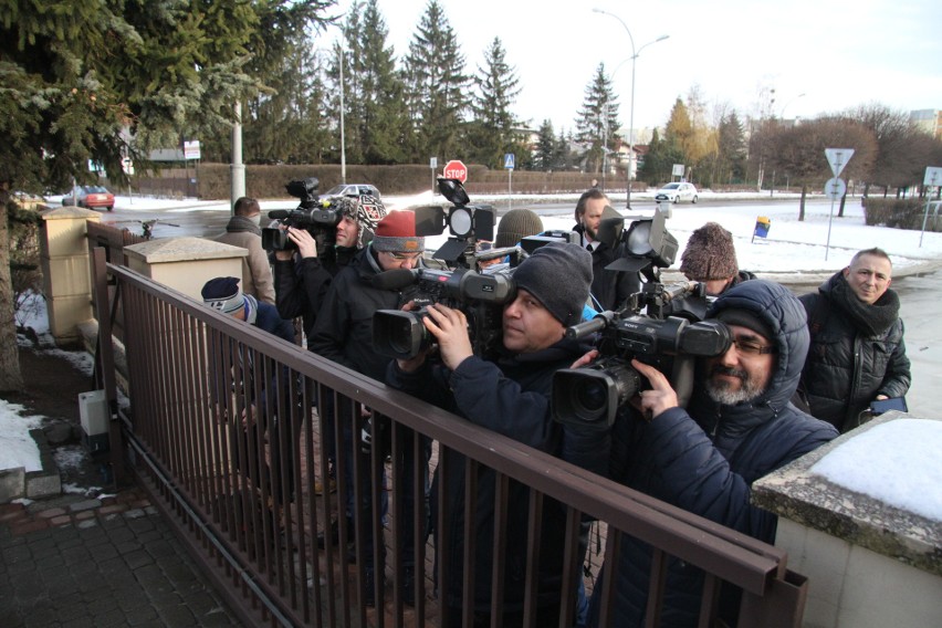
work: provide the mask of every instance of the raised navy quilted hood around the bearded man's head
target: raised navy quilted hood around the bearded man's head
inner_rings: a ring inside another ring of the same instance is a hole
[[[724,292],[706,312],[715,318],[723,310],[747,310],[772,329],[778,362],[766,391],[752,406],[770,406],[778,412],[798,387],[808,354],[808,320],[802,302],[785,286],[765,280],[745,281]]]

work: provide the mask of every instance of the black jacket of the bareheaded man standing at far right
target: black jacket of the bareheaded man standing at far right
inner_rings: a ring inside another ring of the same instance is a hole
[[[902,320],[890,316],[882,331],[865,329],[841,304],[838,293],[845,286],[839,272],[821,284],[817,294],[800,296],[812,334],[802,398],[812,415],[841,432],[860,425],[860,414],[877,395],[902,397],[912,381]],[[875,311],[875,317],[878,308],[886,308],[885,301],[899,302],[891,293],[888,290],[867,306]]]

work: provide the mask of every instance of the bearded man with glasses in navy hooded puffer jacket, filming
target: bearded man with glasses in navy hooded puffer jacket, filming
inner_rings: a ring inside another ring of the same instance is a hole
[[[706,316],[726,324],[732,344],[701,360],[687,409],[661,371],[632,360],[650,389],[613,427],[609,471],[627,486],[772,543],[777,517],[750,503],[752,483],[837,436],[789,401],[808,349],[805,312],[785,287],[753,280],[725,291]],[[625,535],[616,564],[605,565],[595,592],[614,578],[613,625],[643,625],[651,559],[649,545]],[[661,625],[695,626],[703,572],[673,557],[667,569]],[[725,625],[735,626],[741,593],[721,589]],[[598,625],[599,606],[594,596],[589,625]]]

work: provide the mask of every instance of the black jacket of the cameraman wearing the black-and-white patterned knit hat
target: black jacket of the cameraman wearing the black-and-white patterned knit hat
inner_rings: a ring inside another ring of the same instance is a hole
[[[301,316],[304,334],[311,338],[331,281],[353,261],[356,252],[352,247],[335,247],[331,254],[323,257],[275,260],[275,305],[281,317]]]

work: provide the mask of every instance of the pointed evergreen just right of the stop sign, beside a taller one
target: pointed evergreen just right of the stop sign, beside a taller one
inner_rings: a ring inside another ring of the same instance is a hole
[[[500,38],[494,38],[484,51],[484,66],[478,67],[474,78],[478,92],[471,101],[474,114],[468,136],[473,149],[471,158],[491,168],[500,168],[504,153],[516,153],[521,147],[513,133],[519,122],[511,112],[520,94],[520,80],[505,57]]]

